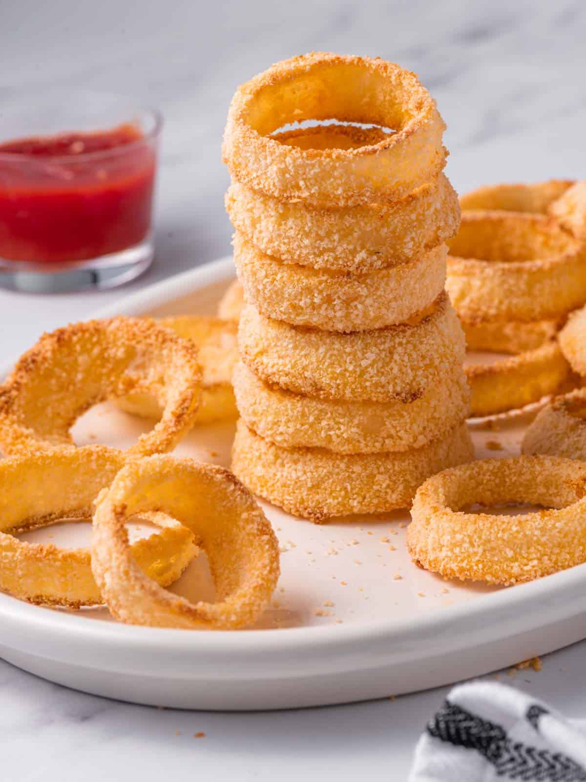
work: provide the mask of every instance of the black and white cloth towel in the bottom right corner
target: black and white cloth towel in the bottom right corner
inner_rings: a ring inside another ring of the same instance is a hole
[[[409,782],[586,782],[586,723],[513,687],[454,687],[416,746]]]

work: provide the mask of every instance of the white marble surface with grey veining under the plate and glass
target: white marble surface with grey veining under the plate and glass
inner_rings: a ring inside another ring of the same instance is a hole
[[[163,109],[157,260],[108,294],[0,292],[0,361],[45,329],[168,274],[225,255],[230,225],[220,139],[234,87],[312,49],[365,53],[415,70],[448,124],[448,175],[462,192],[496,181],[586,177],[586,5],[574,0],[100,3],[0,0],[0,124],[27,87],[122,91]],[[586,644],[510,681],[586,716]],[[504,675],[504,680],[509,678]],[[159,711],[68,691],[0,662],[7,780],[406,779],[416,737],[445,691],[277,714]],[[204,738],[193,734],[204,731]],[[190,762],[197,765],[190,766]]]

